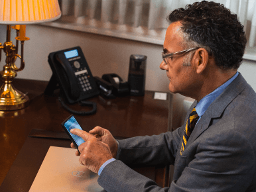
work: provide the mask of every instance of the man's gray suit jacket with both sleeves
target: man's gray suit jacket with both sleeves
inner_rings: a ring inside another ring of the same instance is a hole
[[[182,156],[185,123],[158,136],[119,140],[118,160],[103,169],[99,185],[108,192],[256,191],[255,103],[255,92],[239,74],[198,121]],[[160,188],[129,164],[174,164],[172,183]]]

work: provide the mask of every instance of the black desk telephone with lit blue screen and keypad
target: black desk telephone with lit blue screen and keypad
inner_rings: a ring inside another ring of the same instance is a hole
[[[70,104],[99,95],[99,89],[79,46],[50,53],[48,63],[52,69],[52,77],[44,91],[46,95],[52,95],[58,85]],[[93,105],[96,112],[96,103],[82,104]]]

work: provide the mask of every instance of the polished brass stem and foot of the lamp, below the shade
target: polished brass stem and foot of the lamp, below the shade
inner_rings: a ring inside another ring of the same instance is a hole
[[[22,29],[22,35],[19,36],[20,31],[19,28]],[[3,85],[0,88],[0,111],[16,111],[19,109],[23,109],[29,105],[29,97],[21,93],[13,87],[11,82],[13,78],[17,76],[16,72],[21,72],[25,67],[25,62],[23,60],[23,50],[24,50],[24,42],[29,40],[28,37],[25,36],[25,25],[15,26],[17,30],[16,37],[16,46],[11,42],[11,25],[7,24],[7,35],[6,42],[1,46],[0,43],[0,60],[1,60],[1,50],[6,54],[6,65],[3,66],[3,71],[0,72],[0,76],[2,77]],[[21,55],[18,54],[18,41],[21,41]],[[21,66],[17,68],[15,65],[15,61],[17,58],[21,59]]]

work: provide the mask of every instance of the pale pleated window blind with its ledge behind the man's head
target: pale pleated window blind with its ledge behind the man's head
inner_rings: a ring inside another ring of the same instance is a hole
[[[249,47],[255,46],[256,6],[250,0],[214,0],[236,13],[245,26]],[[62,17],[51,26],[163,44],[176,8],[194,0],[59,0]]]

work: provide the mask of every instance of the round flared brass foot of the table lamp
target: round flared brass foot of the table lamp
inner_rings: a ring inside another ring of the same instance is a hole
[[[27,107],[29,97],[18,91],[11,83],[4,82],[0,88],[0,111],[14,111]]]

